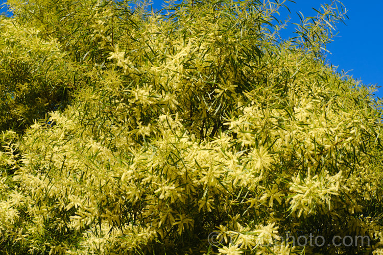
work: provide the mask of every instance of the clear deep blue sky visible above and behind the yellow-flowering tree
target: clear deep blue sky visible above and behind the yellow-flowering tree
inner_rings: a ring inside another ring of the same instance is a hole
[[[0,0],[1,3],[6,0]],[[295,0],[287,3],[291,13],[281,11],[280,18],[291,16],[292,22],[299,22],[297,12],[304,16],[315,16],[321,4],[329,0]],[[338,66],[338,71],[348,71],[353,78],[361,80],[365,85],[383,86],[383,13],[382,0],[344,0],[342,1],[349,19],[345,24],[338,23],[339,34],[334,41],[327,45],[331,52],[327,60]],[[153,1],[153,9],[161,9],[163,1]],[[4,9],[0,10],[3,12]],[[293,36],[291,30],[286,30],[283,36]],[[375,94],[383,97],[383,88]]]

